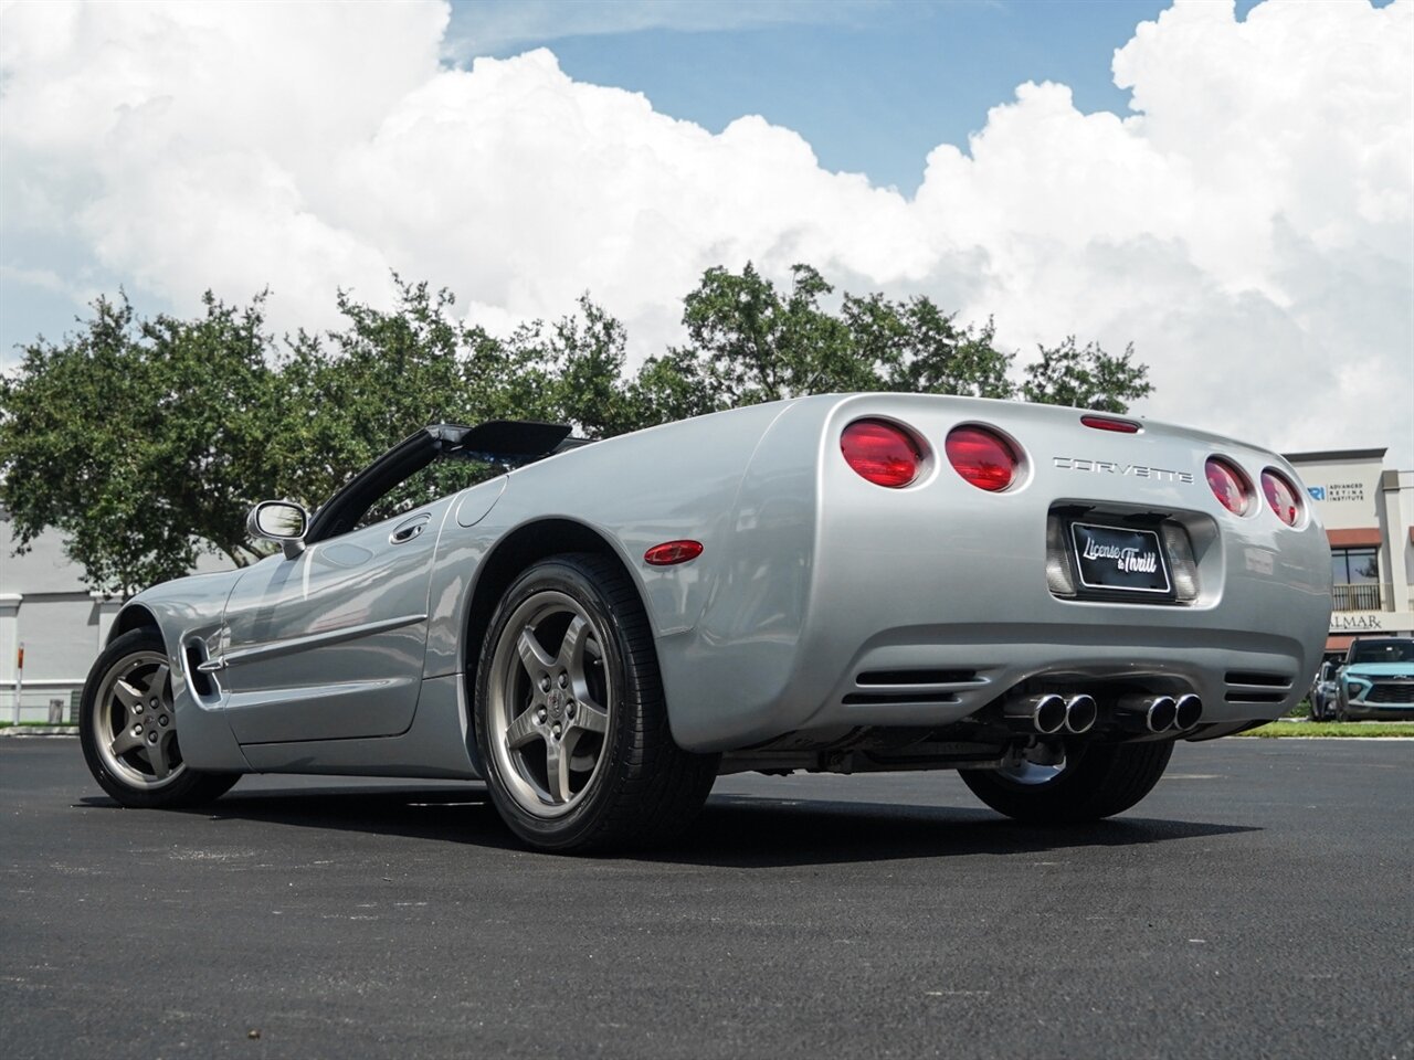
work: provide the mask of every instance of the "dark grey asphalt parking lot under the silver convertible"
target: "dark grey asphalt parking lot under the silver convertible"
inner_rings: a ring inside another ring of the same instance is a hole
[[[8,1057],[1414,1056],[1414,742],[1181,746],[1130,814],[952,775],[728,777],[653,856],[477,786],[122,810],[0,741]]]

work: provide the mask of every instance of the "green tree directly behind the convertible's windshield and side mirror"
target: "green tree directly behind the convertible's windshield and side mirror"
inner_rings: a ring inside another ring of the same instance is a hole
[[[523,324],[505,341],[455,319],[447,290],[393,277],[397,301],[378,310],[338,294],[345,324],[300,332],[279,362],[279,437],[286,496],[315,507],[354,472],[430,423],[495,418],[573,423],[588,437],[631,430],[622,383],[624,325],[580,298],[580,315]],[[499,473],[438,462],[383,497],[369,519]]]

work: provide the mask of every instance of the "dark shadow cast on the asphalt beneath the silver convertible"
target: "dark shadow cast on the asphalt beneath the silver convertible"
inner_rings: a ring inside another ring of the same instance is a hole
[[[83,799],[82,804],[117,806],[105,797]],[[178,813],[212,821],[264,821],[520,849],[496,815],[485,789],[474,784],[238,790],[212,806]],[[1251,831],[1258,830],[1150,817],[1041,827],[964,807],[723,794],[713,796],[697,821],[672,844],[618,856],[641,862],[773,868],[976,854],[1031,855]]]

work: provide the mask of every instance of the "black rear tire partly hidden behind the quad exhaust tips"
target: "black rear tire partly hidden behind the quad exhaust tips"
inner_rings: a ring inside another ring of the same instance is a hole
[[[997,813],[1035,824],[1097,821],[1128,810],[1164,776],[1172,742],[1068,749],[1059,767],[967,769],[963,783]]]

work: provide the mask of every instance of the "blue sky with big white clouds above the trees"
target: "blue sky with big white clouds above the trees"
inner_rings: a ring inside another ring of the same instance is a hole
[[[1134,342],[1138,411],[1414,466],[1414,0],[0,1],[0,343],[390,270],[635,358],[795,261]]]

